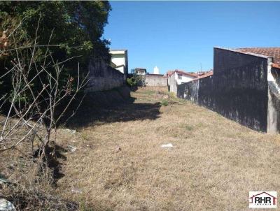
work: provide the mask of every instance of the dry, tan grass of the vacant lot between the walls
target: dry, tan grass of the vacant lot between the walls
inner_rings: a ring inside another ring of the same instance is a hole
[[[248,191],[280,193],[279,135],[151,89],[132,96],[60,132],[77,150],[64,153],[57,194],[94,210],[247,210]]]

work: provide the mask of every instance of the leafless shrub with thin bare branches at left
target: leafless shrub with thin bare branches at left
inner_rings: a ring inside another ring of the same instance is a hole
[[[37,157],[38,164],[48,166],[45,161],[54,153],[47,154],[48,146],[50,141],[55,142],[57,122],[61,122],[66,110],[87,84],[88,74],[80,75],[78,65],[76,78],[71,75],[65,77],[64,63],[71,58],[55,61],[50,45],[38,45],[39,22],[31,46],[18,46],[15,37],[10,36],[14,48],[8,49],[8,52],[14,51],[16,57],[10,61],[12,68],[6,69],[6,73],[0,76],[1,79],[11,75],[12,83],[11,93],[0,99],[0,110],[9,105],[6,117],[0,121],[0,153],[15,149],[22,143],[31,143],[33,159]],[[46,50],[43,59],[38,62],[41,48]],[[38,149],[36,153],[35,147]]]

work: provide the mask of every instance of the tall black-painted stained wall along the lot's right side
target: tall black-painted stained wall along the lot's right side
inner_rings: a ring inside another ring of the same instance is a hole
[[[214,75],[199,80],[197,93],[189,83],[179,85],[179,97],[198,95],[199,105],[251,129],[267,131],[267,58],[214,48]]]

